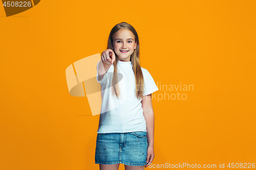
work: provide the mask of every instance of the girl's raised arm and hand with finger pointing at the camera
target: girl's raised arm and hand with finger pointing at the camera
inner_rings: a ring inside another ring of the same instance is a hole
[[[104,75],[106,74],[106,71],[109,70],[111,64],[113,64],[115,60],[116,60],[115,53],[111,49],[105,50],[101,53],[101,60],[99,61],[99,65],[98,65],[99,81],[103,79]]]

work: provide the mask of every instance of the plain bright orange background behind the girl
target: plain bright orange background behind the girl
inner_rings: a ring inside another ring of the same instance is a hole
[[[153,100],[153,164],[256,163],[255,11],[255,1],[44,0],[6,17],[1,6],[0,169],[98,169],[99,115],[69,94],[65,70],[106,50],[122,21],[156,83],[194,85],[186,100]]]

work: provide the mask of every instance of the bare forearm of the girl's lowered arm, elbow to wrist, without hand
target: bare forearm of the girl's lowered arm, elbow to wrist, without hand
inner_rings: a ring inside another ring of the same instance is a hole
[[[146,120],[147,143],[148,147],[154,147],[154,128],[155,128],[155,115],[152,112],[143,112]]]

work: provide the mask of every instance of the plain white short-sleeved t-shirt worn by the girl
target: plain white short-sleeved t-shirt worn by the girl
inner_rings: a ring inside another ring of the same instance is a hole
[[[136,98],[136,83],[132,62],[117,62],[118,79],[120,89],[120,99],[112,94],[112,77],[114,72],[113,64],[104,75],[103,79],[97,81],[101,85],[101,114],[97,133],[125,133],[144,131],[146,132],[146,122],[143,115],[141,99]],[[142,68],[144,78],[143,95],[151,94],[158,90],[150,72]],[[120,74],[119,74],[120,73]]]

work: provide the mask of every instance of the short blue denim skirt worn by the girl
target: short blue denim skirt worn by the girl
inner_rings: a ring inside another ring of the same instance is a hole
[[[146,164],[147,146],[146,132],[98,133],[95,163],[142,166]]]

